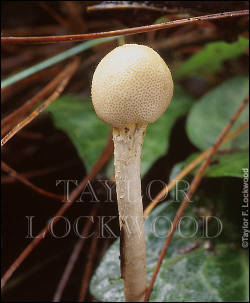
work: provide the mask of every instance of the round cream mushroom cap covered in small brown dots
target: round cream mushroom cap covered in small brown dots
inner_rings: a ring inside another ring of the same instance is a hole
[[[173,94],[171,72],[152,48],[124,44],[107,53],[97,65],[91,96],[97,116],[121,127],[153,123]]]

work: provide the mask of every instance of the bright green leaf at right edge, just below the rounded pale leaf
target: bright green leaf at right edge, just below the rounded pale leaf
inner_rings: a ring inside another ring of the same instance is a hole
[[[199,153],[192,153],[189,155],[184,163],[187,165]],[[204,176],[206,177],[221,177],[231,176],[243,178],[242,168],[249,168],[249,152],[248,151],[236,151],[228,154],[216,154],[211,161],[211,164],[207,167]],[[197,169],[192,171],[192,174],[196,174]]]

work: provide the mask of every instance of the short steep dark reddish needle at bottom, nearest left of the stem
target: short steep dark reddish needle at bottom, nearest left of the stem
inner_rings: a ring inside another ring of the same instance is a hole
[[[93,234],[93,239],[91,241],[91,245],[89,248],[89,252],[87,255],[87,263],[84,268],[83,277],[81,280],[81,286],[80,286],[80,292],[78,296],[78,302],[83,302],[87,293],[88,284],[90,280],[90,276],[92,273],[92,267],[93,267],[93,261],[95,259],[96,253],[97,253],[97,243],[98,243],[98,237],[97,237],[97,231]]]

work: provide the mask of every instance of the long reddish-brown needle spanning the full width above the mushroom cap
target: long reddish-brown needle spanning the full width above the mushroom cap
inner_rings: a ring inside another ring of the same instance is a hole
[[[2,44],[44,44],[44,43],[57,43],[57,42],[85,41],[85,40],[98,39],[103,37],[113,37],[118,35],[142,33],[150,30],[158,30],[158,29],[170,28],[179,25],[185,25],[197,21],[215,20],[215,19],[221,19],[227,17],[244,16],[248,14],[249,14],[249,10],[245,9],[245,10],[228,11],[228,12],[209,14],[209,15],[202,15],[197,17],[189,17],[179,20],[163,22],[159,24],[151,24],[151,25],[103,31],[103,32],[70,34],[70,35],[59,35],[59,36],[1,37],[1,43]]]

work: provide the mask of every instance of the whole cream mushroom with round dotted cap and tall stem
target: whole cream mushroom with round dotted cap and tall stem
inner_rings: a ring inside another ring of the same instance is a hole
[[[147,124],[165,111],[172,93],[173,81],[166,63],[146,45],[114,48],[101,59],[92,78],[95,112],[113,127],[121,277],[126,301],[143,301],[147,288],[141,147]]]

